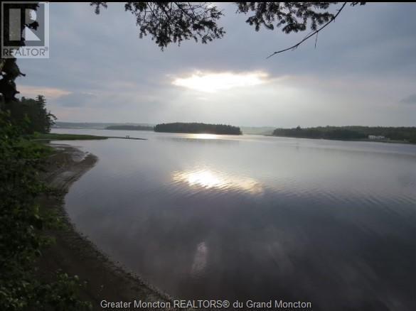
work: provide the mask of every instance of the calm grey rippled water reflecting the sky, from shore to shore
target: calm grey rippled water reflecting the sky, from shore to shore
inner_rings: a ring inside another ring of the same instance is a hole
[[[416,146],[143,131],[69,141],[99,161],[66,209],[178,298],[416,310]]]

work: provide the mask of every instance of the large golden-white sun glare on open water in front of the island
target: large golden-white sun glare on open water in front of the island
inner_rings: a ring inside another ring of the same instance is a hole
[[[185,182],[190,187],[215,188],[220,190],[239,190],[258,194],[263,192],[263,186],[253,178],[230,175],[214,170],[183,170],[172,175],[174,182]]]

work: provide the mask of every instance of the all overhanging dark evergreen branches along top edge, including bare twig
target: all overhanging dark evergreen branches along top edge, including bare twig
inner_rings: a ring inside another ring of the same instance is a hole
[[[316,36],[341,13],[347,2],[235,2],[236,13],[252,13],[246,23],[255,26],[259,31],[261,26],[274,30],[282,28],[284,33],[306,31],[311,29],[303,40],[289,48],[278,50],[272,55],[293,50],[307,39]],[[351,6],[363,5],[366,2],[351,2]],[[338,10],[328,11],[338,5]],[[100,7],[107,8],[107,2],[91,2],[95,13],[100,13]],[[208,43],[225,34],[223,28],[218,28],[216,21],[223,15],[215,6],[190,2],[127,2],[126,11],[136,16],[139,36],[148,33],[152,40],[162,48],[169,43],[181,43],[182,40],[201,38],[202,43]],[[319,27],[321,26],[321,27]],[[318,28],[319,27],[319,28]],[[270,55],[270,56],[272,56]],[[269,56],[269,57],[270,57]]]

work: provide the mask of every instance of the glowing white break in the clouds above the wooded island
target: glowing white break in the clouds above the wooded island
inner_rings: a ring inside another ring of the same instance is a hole
[[[172,84],[178,87],[195,89],[200,92],[218,92],[235,87],[252,87],[267,80],[265,72],[197,72],[190,77],[176,78]]]

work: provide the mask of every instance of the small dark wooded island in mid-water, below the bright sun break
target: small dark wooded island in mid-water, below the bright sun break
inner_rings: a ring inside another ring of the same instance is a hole
[[[220,135],[241,135],[241,130],[238,126],[205,123],[163,123],[154,126],[154,131],[167,133],[209,133]]]

